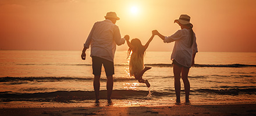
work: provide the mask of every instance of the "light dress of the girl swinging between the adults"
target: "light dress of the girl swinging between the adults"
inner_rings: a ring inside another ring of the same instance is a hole
[[[130,76],[137,75],[144,68],[143,54],[138,54],[137,52],[132,52],[130,57]]]

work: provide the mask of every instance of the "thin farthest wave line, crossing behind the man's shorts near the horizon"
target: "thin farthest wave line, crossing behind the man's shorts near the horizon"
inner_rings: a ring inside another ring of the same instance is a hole
[[[91,64],[16,64],[16,65],[41,65],[41,66],[91,66]],[[115,64],[115,66],[129,66],[129,64]],[[172,67],[172,64],[157,63],[157,64],[145,64],[145,66],[152,67]],[[195,64],[193,67],[256,67],[254,64]]]

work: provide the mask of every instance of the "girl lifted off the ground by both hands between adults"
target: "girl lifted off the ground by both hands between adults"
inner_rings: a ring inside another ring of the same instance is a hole
[[[144,80],[142,78],[143,74],[145,73],[145,71],[150,70],[151,67],[144,67],[144,53],[145,50],[148,48],[148,45],[150,45],[150,42],[152,41],[152,39],[154,38],[154,35],[151,36],[150,39],[148,39],[147,44],[145,44],[144,46],[141,44],[140,39],[131,39],[131,42],[129,41],[129,36],[126,37],[126,42],[127,45],[129,46],[128,49],[128,55],[130,57],[130,64],[129,64],[129,70],[130,70],[130,76],[134,76],[138,82],[140,83],[145,83],[147,85],[148,88],[150,88],[150,83],[148,82],[148,80]],[[128,57],[129,57],[128,56]]]

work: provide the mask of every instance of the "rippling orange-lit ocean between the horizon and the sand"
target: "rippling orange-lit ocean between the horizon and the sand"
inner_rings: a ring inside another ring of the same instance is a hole
[[[94,106],[90,50],[0,50],[0,107]],[[115,54],[113,106],[166,106],[175,103],[171,52],[147,51],[144,75],[129,76],[127,51]],[[256,53],[198,52],[190,68],[191,104],[256,103]],[[182,82],[182,81],[181,81]],[[101,106],[106,105],[106,76],[101,74]],[[182,82],[181,99],[184,102]],[[20,105],[21,104],[21,105]]]

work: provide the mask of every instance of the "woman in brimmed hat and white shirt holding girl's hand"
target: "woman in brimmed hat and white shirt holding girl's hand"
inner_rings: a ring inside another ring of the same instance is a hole
[[[190,16],[182,14],[174,22],[179,24],[181,28],[175,34],[165,37],[157,30],[152,31],[152,33],[158,35],[165,43],[175,41],[171,60],[173,61],[173,74],[175,77],[176,104],[180,104],[180,77],[182,77],[186,93],[185,104],[190,104],[190,82],[187,77],[190,67],[194,65],[195,53],[198,52],[197,43],[194,31],[192,30],[193,24],[190,23]]]

